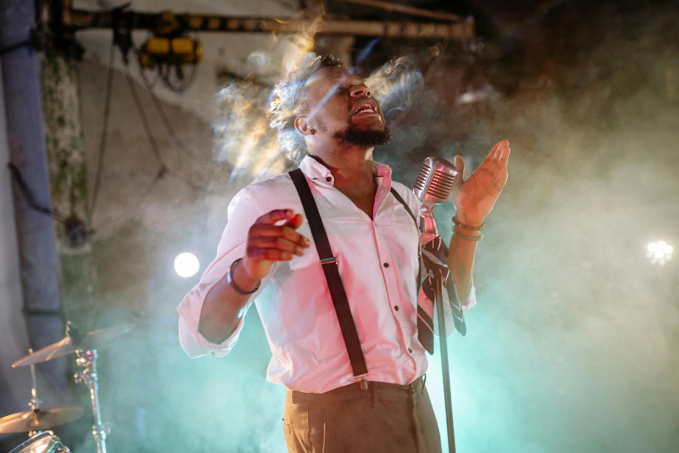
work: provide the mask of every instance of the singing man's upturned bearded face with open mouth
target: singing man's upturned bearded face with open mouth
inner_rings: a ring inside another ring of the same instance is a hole
[[[366,148],[388,142],[380,103],[361,78],[340,67],[327,67],[316,71],[306,86],[306,120],[316,133]]]

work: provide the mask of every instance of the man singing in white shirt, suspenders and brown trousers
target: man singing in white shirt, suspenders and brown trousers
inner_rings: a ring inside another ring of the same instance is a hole
[[[181,346],[190,357],[226,355],[255,301],[273,354],[267,380],[288,388],[290,452],[441,452],[418,340],[420,201],[373,162],[373,148],[390,139],[380,104],[332,57],[293,71],[275,94],[272,127],[301,171],[236,194],[217,257],[179,304]],[[508,158],[503,140],[464,182],[455,158],[447,265],[463,313],[476,303],[477,239]],[[322,262],[323,250],[332,255]]]

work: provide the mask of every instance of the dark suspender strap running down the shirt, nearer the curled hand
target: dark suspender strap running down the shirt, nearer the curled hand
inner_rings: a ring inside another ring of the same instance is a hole
[[[366,375],[368,369],[365,366],[365,357],[363,357],[361,340],[359,340],[359,333],[356,331],[354,317],[349,308],[349,301],[346,298],[342,277],[339,276],[337,257],[333,255],[333,251],[330,248],[330,242],[328,241],[328,235],[325,233],[323,220],[320,219],[320,214],[318,213],[318,206],[316,206],[314,196],[311,193],[309,183],[306,181],[304,173],[297,168],[289,172],[289,175],[293,179],[293,183],[295,183],[295,189],[297,189],[301,205],[304,207],[304,213],[309,222],[311,234],[314,236],[316,250],[318,251],[318,257],[320,257],[320,264],[323,266],[323,272],[325,272],[325,280],[327,280],[328,288],[330,289],[330,297],[335,306],[337,321],[339,321],[339,329],[342,331],[342,337],[344,337],[344,345],[346,346],[346,352],[348,352],[349,355],[352,372],[354,373],[354,376]],[[367,390],[365,376],[359,380],[361,381],[361,390]]]

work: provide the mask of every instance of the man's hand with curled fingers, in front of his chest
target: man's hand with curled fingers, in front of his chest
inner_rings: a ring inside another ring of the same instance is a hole
[[[285,223],[276,225],[281,221]],[[236,270],[244,271],[252,280],[261,280],[276,261],[304,255],[311,241],[295,231],[302,221],[304,217],[292,209],[276,209],[259,217],[250,227],[245,256]]]

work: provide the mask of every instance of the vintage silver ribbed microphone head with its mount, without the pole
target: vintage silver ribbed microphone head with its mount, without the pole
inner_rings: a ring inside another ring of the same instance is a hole
[[[422,164],[413,192],[422,200],[420,242],[423,245],[439,235],[434,219],[434,205],[447,202],[457,175],[455,166],[442,158],[430,156]]]

